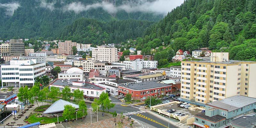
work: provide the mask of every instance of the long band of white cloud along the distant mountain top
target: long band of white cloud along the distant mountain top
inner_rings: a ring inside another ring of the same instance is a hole
[[[147,2],[146,0],[140,0],[138,4],[125,3],[120,6],[115,6],[112,3],[101,2],[95,4],[84,5],[81,2],[73,2],[67,4],[62,9],[63,11],[74,11],[76,13],[88,11],[90,9],[102,8],[108,13],[116,13],[117,11],[124,10],[126,12],[152,12],[156,14],[166,15],[171,12],[173,8],[179,6],[184,0],[156,0],[154,2]],[[42,7],[49,8],[53,10],[54,3],[46,3],[42,1]]]

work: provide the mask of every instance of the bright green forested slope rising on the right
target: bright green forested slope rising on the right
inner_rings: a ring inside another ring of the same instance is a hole
[[[151,48],[161,45],[154,45],[159,39],[174,51],[209,47],[229,52],[229,59],[256,60],[255,36],[255,0],[186,0],[147,28],[135,44],[143,53],[150,53]]]

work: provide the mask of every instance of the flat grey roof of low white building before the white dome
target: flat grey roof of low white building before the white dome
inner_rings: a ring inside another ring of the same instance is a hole
[[[68,80],[65,79],[56,79],[55,81],[53,81],[51,83],[51,85],[57,85],[57,86],[69,86],[69,87],[73,87],[73,88],[84,88],[84,89],[93,89],[93,90],[103,90],[105,88],[102,88],[100,86],[97,86],[95,84],[91,84],[91,83],[88,83],[88,82],[85,82],[85,84],[83,86],[75,86],[75,85],[72,85],[72,84],[69,84],[68,85]],[[79,79],[70,79],[69,82],[78,82],[78,83],[83,83],[81,81],[79,81]]]

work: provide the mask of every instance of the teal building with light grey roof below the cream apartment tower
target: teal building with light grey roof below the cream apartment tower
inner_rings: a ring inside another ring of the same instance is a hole
[[[252,113],[255,108],[255,98],[241,95],[207,103],[205,105],[205,113],[195,115],[194,128],[231,128],[230,124],[232,123],[230,121],[232,119]],[[253,126],[255,127],[255,125]],[[243,128],[250,127],[247,125],[247,127]]]

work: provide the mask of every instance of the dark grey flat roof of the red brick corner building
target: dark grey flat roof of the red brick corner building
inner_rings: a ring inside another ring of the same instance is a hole
[[[142,82],[142,83],[129,84],[128,86],[127,85],[119,85],[119,86],[129,88],[129,89],[133,89],[133,90],[144,90],[144,89],[151,89],[151,88],[172,86],[172,85],[156,83],[156,82],[153,82],[153,81],[147,81],[147,82]]]

